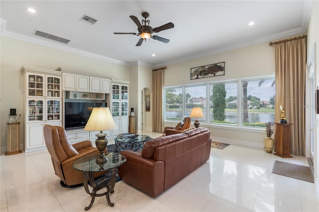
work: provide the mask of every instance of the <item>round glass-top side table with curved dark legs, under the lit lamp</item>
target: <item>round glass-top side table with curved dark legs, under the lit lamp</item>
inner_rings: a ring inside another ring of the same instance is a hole
[[[114,192],[114,186],[115,186],[115,180],[116,180],[116,168],[121,166],[126,161],[125,156],[119,153],[110,153],[106,156],[107,161],[105,163],[98,164],[95,162],[95,160],[99,157],[100,157],[100,154],[88,155],[77,160],[73,164],[74,169],[83,172],[84,189],[86,193],[92,197],[90,205],[84,208],[85,211],[89,210],[92,207],[95,197],[106,196],[106,200],[109,206],[111,207],[114,206],[114,203],[111,203],[110,201],[110,194]],[[109,182],[106,185],[105,184],[96,185],[93,178],[93,173],[103,172],[107,170],[111,172],[111,178]],[[88,181],[90,182],[90,185],[93,188],[92,192],[90,192],[89,190]],[[107,191],[101,194],[97,194],[97,192],[102,188],[106,188]]]

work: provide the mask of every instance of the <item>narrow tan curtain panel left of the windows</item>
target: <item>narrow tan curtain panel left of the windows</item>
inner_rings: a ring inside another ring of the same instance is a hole
[[[164,69],[153,71],[152,74],[152,120],[153,131],[162,132],[164,128],[162,118],[162,91],[164,85]]]

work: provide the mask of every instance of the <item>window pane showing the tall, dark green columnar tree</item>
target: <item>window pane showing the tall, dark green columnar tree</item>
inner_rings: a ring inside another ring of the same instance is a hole
[[[210,123],[237,124],[237,82],[211,84]]]

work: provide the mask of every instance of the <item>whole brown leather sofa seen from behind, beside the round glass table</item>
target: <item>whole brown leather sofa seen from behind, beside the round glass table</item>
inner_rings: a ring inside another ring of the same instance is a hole
[[[152,139],[142,151],[122,151],[118,167],[127,184],[157,197],[209,159],[210,131],[205,127]]]

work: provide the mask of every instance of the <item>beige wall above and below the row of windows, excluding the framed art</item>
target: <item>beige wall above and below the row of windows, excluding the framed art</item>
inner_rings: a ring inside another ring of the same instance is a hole
[[[190,69],[213,63],[225,62],[225,75],[190,80]],[[166,66],[164,86],[201,84],[223,80],[261,77],[275,75],[275,49],[267,43],[228,51],[196,60]],[[179,79],[178,81],[176,79]],[[175,123],[165,122],[174,126]],[[249,146],[264,146],[265,131],[244,130],[238,127],[221,127],[204,125],[211,131],[215,141],[226,143],[240,143]]]

